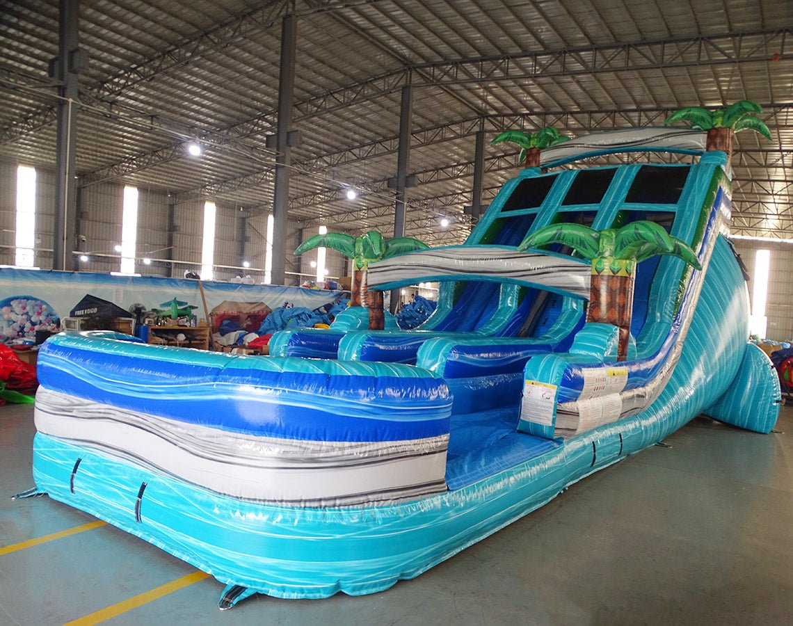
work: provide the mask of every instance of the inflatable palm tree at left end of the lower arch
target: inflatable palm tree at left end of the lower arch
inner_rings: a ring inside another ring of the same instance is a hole
[[[328,232],[326,235],[315,235],[305,240],[297,247],[295,254],[301,255],[313,248],[333,248],[347,259],[354,259],[350,305],[366,306],[369,309],[370,330],[382,330],[385,328],[383,292],[369,291],[366,288],[369,264],[428,246],[412,237],[384,239],[376,230],[370,230],[359,237],[352,237],[343,232]]]

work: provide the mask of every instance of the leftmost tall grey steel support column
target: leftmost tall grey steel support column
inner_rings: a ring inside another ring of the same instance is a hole
[[[50,64],[50,75],[59,81],[56,138],[55,233],[52,242],[52,267],[69,270],[75,246],[77,221],[77,182],[75,148],[77,129],[76,101],[78,77],[82,71],[79,51],[79,0],[60,0],[58,57]]]

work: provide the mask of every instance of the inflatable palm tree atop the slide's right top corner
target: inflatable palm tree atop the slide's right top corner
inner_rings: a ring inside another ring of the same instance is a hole
[[[688,106],[672,113],[666,118],[665,125],[672,122],[685,121],[692,129],[707,130],[706,150],[722,150],[730,159],[733,152],[733,136],[740,130],[753,130],[766,139],[771,139],[771,132],[760,117],[763,107],[751,100],[741,100],[726,107],[709,111],[699,106]]]

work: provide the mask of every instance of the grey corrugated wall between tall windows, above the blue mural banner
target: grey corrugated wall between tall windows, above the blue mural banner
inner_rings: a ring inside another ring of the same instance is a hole
[[[16,232],[16,194],[17,163],[0,160],[0,263],[12,265],[14,262],[14,236]],[[136,271],[143,275],[169,276],[171,263],[167,262],[168,242],[168,194],[164,191],[139,187],[138,232]],[[109,272],[118,271],[121,259],[113,247],[121,243],[121,213],[123,209],[124,186],[105,182],[80,190],[79,225],[77,249],[89,255],[89,262],[79,263],[81,271]],[[55,178],[52,170],[36,168],[36,265],[44,269],[52,267],[52,236],[55,229]],[[256,282],[264,278],[264,234],[266,233],[266,214],[250,218],[247,228],[247,242],[244,244],[244,257],[240,257],[239,225],[240,211],[235,206],[216,203],[215,225],[215,278],[229,280],[236,275],[251,274]],[[186,270],[201,271],[201,240],[203,238],[204,202],[201,200],[176,205],[174,209],[174,276],[181,277]],[[298,271],[299,261],[291,251],[301,243],[300,225],[290,222],[287,241],[287,271]],[[151,265],[144,265],[140,259],[154,259]],[[343,274],[343,258],[332,253],[328,255],[328,269],[331,275]],[[245,270],[243,260],[251,263],[252,268],[261,271]],[[305,261],[308,267],[308,261]],[[287,284],[300,282],[297,277],[288,278]]]

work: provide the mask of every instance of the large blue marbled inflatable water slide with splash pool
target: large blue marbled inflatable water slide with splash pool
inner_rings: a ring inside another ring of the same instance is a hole
[[[416,331],[286,332],[270,357],[55,336],[30,494],[209,572],[224,608],[386,590],[700,413],[770,431],[730,206],[704,132],[599,133],[543,150],[465,244],[370,265],[370,290],[441,282]]]

